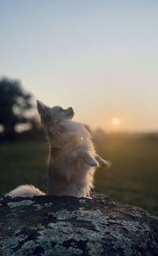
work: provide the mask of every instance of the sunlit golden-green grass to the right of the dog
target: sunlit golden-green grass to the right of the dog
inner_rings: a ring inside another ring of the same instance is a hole
[[[96,148],[112,163],[96,172],[96,190],[158,215],[158,141],[114,136]]]

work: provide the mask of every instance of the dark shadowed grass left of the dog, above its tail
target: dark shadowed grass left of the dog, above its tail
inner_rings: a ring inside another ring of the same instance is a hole
[[[44,141],[22,141],[0,145],[0,193],[21,184],[46,189],[48,145]]]

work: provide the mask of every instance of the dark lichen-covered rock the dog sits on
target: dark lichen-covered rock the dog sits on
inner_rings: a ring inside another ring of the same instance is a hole
[[[158,255],[158,218],[103,194],[0,196],[0,255]]]

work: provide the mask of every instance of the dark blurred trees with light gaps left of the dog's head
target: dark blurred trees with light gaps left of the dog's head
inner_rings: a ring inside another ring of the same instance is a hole
[[[21,81],[8,77],[0,78],[0,137],[15,139],[20,133],[17,127],[28,126],[23,133],[26,137],[37,137],[41,133],[36,113],[35,98],[26,92]]]

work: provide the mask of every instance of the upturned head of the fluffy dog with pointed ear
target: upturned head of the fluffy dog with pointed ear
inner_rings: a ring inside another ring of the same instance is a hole
[[[51,124],[57,125],[64,120],[73,119],[74,115],[72,107],[68,107],[67,109],[63,109],[59,106],[48,107],[39,100],[37,100],[37,109],[40,114],[41,122],[46,129]]]

